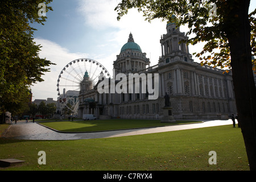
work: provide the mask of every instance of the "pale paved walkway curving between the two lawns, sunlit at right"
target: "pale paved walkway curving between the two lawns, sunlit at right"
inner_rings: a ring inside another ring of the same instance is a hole
[[[10,127],[2,135],[3,138],[12,139],[27,139],[27,140],[77,140],[77,139],[91,139],[91,138],[110,138],[122,137],[130,135],[141,135],[149,133],[161,133],[166,131],[188,130],[201,127],[232,125],[231,119],[229,120],[214,120],[204,121],[203,123],[195,123],[188,125],[175,125],[164,127],[153,127],[146,129],[132,129],[132,130],[116,130],[116,131],[101,131],[94,133],[59,133],[41,126],[38,123],[18,121]],[[232,126],[230,126],[232,127]]]

